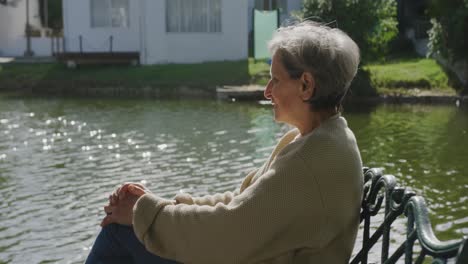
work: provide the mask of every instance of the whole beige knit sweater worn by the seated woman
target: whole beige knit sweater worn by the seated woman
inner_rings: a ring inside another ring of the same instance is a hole
[[[347,263],[363,185],[355,137],[339,115],[297,136],[284,135],[235,192],[179,204],[145,194],[134,207],[138,239],[183,263]]]

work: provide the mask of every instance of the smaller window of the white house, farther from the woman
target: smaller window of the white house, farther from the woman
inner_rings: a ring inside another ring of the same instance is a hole
[[[91,0],[91,27],[129,26],[128,0]]]

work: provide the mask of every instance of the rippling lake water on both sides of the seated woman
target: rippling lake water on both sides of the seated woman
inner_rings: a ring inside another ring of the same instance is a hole
[[[439,238],[468,234],[466,109],[344,116],[366,166],[426,197]],[[167,198],[233,190],[288,129],[257,103],[0,97],[0,263],[81,263],[116,185],[142,181]]]

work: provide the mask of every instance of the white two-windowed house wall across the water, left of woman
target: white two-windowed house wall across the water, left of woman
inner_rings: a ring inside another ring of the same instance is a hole
[[[248,53],[248,0],[63,0],[63,19],[67,52],[139,52],[142,64]]]

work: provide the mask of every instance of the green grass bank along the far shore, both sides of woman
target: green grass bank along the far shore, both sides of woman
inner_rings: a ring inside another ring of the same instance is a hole
[[[269,65],[253,59],[208,62],[201,64],[167,64],[151,66],[84,66],[68,69],[59,63],[8,63],[0,65],[0,90],[34,87],[196,87],[214,91],[222,85],[265,85]],[[432,59],[397,58],[364,66],[370,72],[372,86],[378,95],[455,95],[448,77]],[[359,88],[359,87],[357,87]],[[354,89],[357,89],[354,88]],[[54,88],[52,88],[54,89]]]

